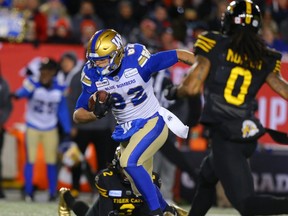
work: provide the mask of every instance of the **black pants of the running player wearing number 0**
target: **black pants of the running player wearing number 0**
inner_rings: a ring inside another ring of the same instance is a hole
[[[225,194],[241,215],[275,215],[288,213],[288,199],[256,195],[249,158],[257,146],[223,139],[212,131],[211,153],[201,164],[199,181],[189,216],[205,215],[212,206],[215,185],[220,180]]]

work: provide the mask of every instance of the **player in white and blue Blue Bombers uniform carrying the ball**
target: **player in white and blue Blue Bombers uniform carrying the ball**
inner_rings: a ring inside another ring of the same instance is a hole
[[[117,121],[112,138],[121,143],[120,165],[132,183],[133,192],[147,202],[150,215],[163,215],[169,205],[152,182],[153,155],[165,143],[168,127],[185,138],[188,127],[160,106],[151,76],[178,61],[192,65],[194,54],[180,49],[150,54],[144,45],[137,43],[124,47],[115,30],[104,29],[91,37],[87,59],[81,78],[83,90],[73,119],[76,123],[94,121],[112,109]],[[89,97],[99,90],[109,92],[110,99],[99,103],[96,98],[91,112]]]

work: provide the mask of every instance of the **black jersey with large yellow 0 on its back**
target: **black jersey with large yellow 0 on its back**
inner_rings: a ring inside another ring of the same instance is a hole
[[[210,72],[204,84],[202,123],[220,123],[253,115],[255,97],[269,73],[280,72],[281,54],[270,50],[259,66],[243,67],[241,57],[229,47],[230,39],[205,32],[195,43],[195,54],[208,58]]]

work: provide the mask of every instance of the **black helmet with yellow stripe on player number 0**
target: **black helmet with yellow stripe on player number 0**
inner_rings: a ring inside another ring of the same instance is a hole
[[[236,28],[245,27],[257,33],[261,28],[262,18],[258,5],[251,0],[232,1],[222,16],[223,34],[231,34]]]

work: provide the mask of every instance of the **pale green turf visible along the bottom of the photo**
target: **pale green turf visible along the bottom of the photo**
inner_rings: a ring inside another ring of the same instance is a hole
[[[36,194],[36,202],[25,202],[21,199],[21,194],[18,190],[5,191],[7,198],[0,201],[0,216],[57,216],[58,202],[47,202],[47,194],[45,192],[39,192]],[[92,202],[91,195],[82,194],[80,197],[82,200]],[[182,206],[188,209],[189,206]],[[71,213],[74,216],[73,213]],[[233,209],[220,209],[212,208],[207,215],[239,215]],[[103,215],[104,216],[104,215]]]

